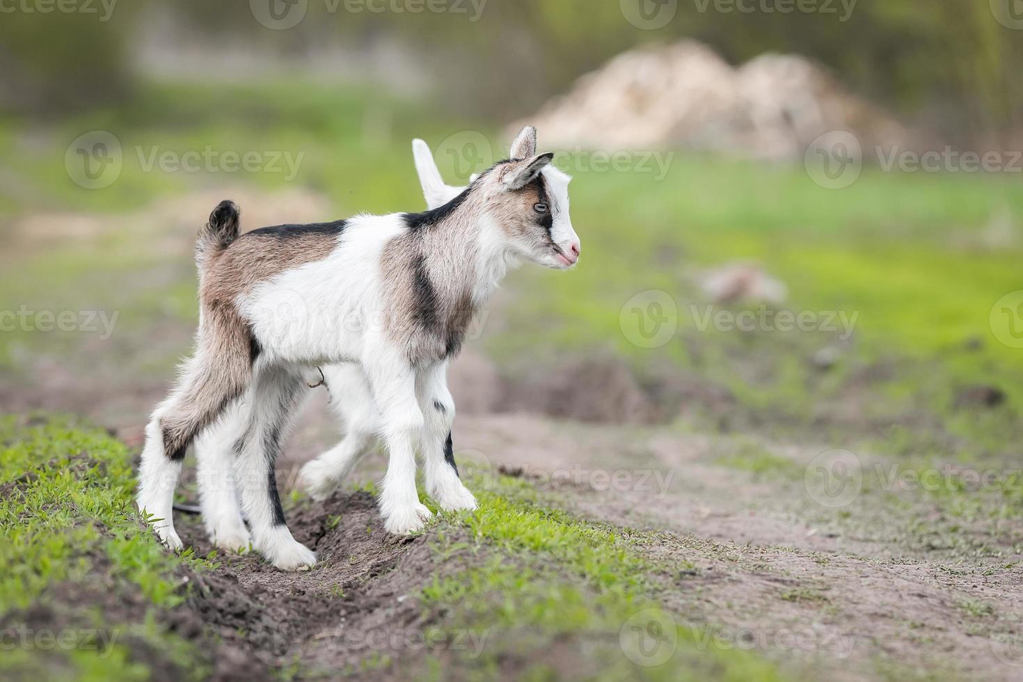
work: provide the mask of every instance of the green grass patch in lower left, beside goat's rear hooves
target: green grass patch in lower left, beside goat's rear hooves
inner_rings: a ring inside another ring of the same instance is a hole
[[[19,623],[25,609],[50,604],[57,612],[86,611],[83,603],[64,603],[54,593],[64,586],[88,594],[141,595],[148,606],[141,622],[119,622],[94,613],[93,627],[109,633],[112,646],[27,647],[5,657],[0,670],[73,671],[76,679],[146,679],[145,665],[133,662],[128,638],[141,639],[165,661],[196,676],[201,657],[184,640],[154,619],[159,610],[181,603],[176,569],[210,565],[190,552],[169,554],[132,509],[131,456],[106,433],[66,418],[0,417],[0,620]],[[83,612],[76,619],[83,619]],[[74,621],[70,621],[74,622]],[[196,663],[199,661],[199,663]],[[48,675],[47,675],[48,676]]]

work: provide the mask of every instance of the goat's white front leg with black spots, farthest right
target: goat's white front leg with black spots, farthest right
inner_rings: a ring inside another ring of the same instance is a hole
[[[422,463],[427,493],[442,509],[475,509],[476,498],[461,483],[454,462],[451,442],[454,399],[447,388],[447,363],[420,371],[416,389],[426,420]]]

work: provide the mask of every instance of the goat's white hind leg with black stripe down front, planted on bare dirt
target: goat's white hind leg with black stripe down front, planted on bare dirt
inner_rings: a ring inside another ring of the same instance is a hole
[[[274,464],[280,443],[306,390],[300,372],[287,367],[259,371],[253,385],[249,423],[235,444],[235,471],[253,546],[281,571],[308,569],[316,555],[292,537],[277,492]]]

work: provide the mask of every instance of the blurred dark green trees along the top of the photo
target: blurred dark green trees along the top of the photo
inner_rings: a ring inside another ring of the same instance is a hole
[[[452,112],[501,120],[534,110],[625,49],[693,38],[732,63],[764,51],[806,55],[852,90],[953,139],[1020,125],[1023,33],[1002,26],[989,2],[789,1],[679,0],[673,20],[654,31],[630,25],[619,0],[308,0],[305,20],[287,31],[254,20],[249,0],[179,0],[160,9],[174,13],[195,40],[215,46],[232,37],[282,58],[301,60],[339,44],[360,50],[398,42],[421,57],[431,88]],[[430,11],[437,3],[448,10]],[[753,11],[740,11],[740,4]],[[141,11],[145,6],[119,3],[105,22],[4,14],[3,106],[63,111],[124,96],[133,25],[154,20]],[[797,9],[783,12],[783,6]],[[798,10],[806,6],[834,11]]]

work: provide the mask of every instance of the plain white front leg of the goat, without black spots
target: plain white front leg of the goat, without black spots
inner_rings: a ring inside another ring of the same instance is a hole
[[[415,491],[415,447],[424,427],[422,411],[415,399],[415,372],[399,357],[374,358],[365,371],[381,412],[388,450],[380,496],[384,528],[398,535],[412,533],[432,515]]]

